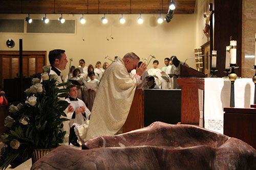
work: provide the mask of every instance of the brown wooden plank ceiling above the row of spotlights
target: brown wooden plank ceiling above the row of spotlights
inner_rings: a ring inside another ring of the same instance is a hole
[[[167,13],[170,0],[12,0],[0,1],[0,13],[121,14]],[[175,14],[193,14],[196,0],[174,0]]]

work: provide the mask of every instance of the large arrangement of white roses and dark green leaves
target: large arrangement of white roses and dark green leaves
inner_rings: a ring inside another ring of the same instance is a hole
[[[44,66],[42,81],[33,79],[25,92],[27,100],[11,105],[10,116],[5,119],[7,130],[1,136],[5,144],[1,150],[0,167],[17,166],[29,159],[34,149],[52,149],[63,142],[66,131],[61,131],[63,121],[69,120],[64,112],[69,106],[63,98],[69,91],[58,88],[69,83],[57,84],[57,75],[50,75],[50,66]]]

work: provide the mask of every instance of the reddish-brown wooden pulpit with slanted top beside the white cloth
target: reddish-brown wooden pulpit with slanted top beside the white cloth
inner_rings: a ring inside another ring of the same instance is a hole
[[[177,79],[181,86],[181,124],[199,125],[199,92],[204,90],[205,74],[180,64],[180,76]]]

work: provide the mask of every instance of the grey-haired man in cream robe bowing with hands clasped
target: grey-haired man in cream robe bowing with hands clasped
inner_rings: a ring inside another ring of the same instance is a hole
[[[139,57],[127,53],[122,59],[117,58],[105,70],[99,84],[90,123],[76,127],[76,134],[81,142],[100,135],[114,135],[124,125],[130,111],[137,79],[130,72],[137,69],[142,76],[146,64],[138,68]]]

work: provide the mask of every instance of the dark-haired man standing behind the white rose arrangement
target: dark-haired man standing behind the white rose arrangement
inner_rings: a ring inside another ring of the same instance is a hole
[[[68,63],[67,60],[67,56],[65,54],[65,50],[52,50],[49,52],[49,62],[51,64],[51,70],[50,70],[50,75],[57,75],[57,84],[62,83],[61,77],[60,77],[60,73],[62,70],[64,70],[66,68],[66,65]],[[63,88],[58,87],[58,88]],[[59,98],[60,100],[65,100],[65,98]],[[69,106],[66,111],[66,113],[68,112],[73,112],[73,107]],[[69,121],[65,121],[63,122],[63,131],[66,131],[66,135],[64,137],[64,140],[68,139],[69,136]]]

